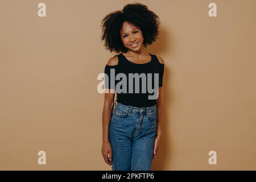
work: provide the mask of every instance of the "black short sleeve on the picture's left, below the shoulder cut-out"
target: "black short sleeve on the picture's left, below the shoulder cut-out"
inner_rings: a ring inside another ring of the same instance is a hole
[[[117,65],[110,66],[110,65],[105,65],[105,89],[115,89],[115,72],[117,69]]]

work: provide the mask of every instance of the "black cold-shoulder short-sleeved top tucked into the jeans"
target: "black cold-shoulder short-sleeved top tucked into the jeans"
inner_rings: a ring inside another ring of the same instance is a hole
[[[117,92],[117,102],[121,104],[135,107],[154,106],[156,104],[156,98],[158,98],[158,88],[163,85],[164,64],[159,62],[156,55],[151,54],[150,62],[142,64],[129,61],[122,53],[115,56],[118,56],[118,64],[113,66],[106,64],[105,66],[105,74],[108,75],[108,79],[105,77],[105,88],[115,89]],[[112,75],[110,74],[110,69],[112,69]],[[159,85],[155,87],[157,75]],[[113,80],[112,84],[110,80]],[[139,88],[138,85],[136,87],[137,92],[135,90],[135,82],[139,84]],[[133,87],[130,86],[129,88],[129,85],[133,85]],[[148,98],[148,96],[151,96],[151,98]]]

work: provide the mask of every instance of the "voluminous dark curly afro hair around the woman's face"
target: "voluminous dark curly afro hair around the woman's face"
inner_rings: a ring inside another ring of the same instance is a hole
[[[148,10],[147,6],[141,3],[128,4],[123,7],[122,11],[115,11],[106,15],[101,22],[101,40],[105,40],[104,46],[110,52],[128,51],[123,45],[120,35],[123,22],[129,22],[141,28],[144,47],[158,39],[158,27],[160,24],[158,15]]]

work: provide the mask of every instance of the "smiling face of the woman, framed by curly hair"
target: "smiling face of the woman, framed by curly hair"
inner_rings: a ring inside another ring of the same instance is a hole
[[[133,24],[123,22],[120,32],[123,45],[131,51],[139,51],[143,46],[143,35],[141,28]]]

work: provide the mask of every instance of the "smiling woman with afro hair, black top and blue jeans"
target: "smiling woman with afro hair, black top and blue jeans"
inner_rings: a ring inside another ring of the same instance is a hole
[[[102,20],[101,38],[105,47],[110,52],[121,52],[105,65],[101,152],[112,170],[149,171],[158,151],[164,61],[147,53],[145,48],[158,38],[159,24],[159,17],[141,3],[126,5],[122,11],[110,13]],[[111,72],[121,75],[113,78]],[[137,82],[133,82],[134,78]],[[150,89],[152,82],[157,90],[155,98]]]

